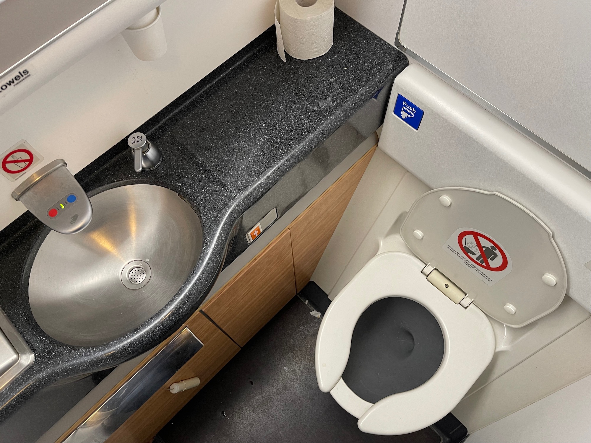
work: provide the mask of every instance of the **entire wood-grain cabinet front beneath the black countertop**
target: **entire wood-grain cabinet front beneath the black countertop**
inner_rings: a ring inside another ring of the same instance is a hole
[[[202,308],[203,312],[193,314],[179,329],[180,331],[184,327],[189,327],[202,341],[203,348],[121,425],[109,437],[108,443],[150,441],[199,392],[201,387],[238,353],[239,346],[244,346],[296,295],[297,291],[310,281],[374,152],[375,146],[324,191],[322,196],[288,226],[288,229],[279,234],[272,243],[217,291]],[[111,392],[100,400],[95,408],[80,418],[58,442],[70,435],[175,335],[171,335],[156,347],[134,371],[113,387]],[[201,385],[177,394],[168,391],[171,383],[191,377],[199,377]]]

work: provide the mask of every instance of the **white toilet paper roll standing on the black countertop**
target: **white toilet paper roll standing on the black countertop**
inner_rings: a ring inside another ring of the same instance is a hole
[[[333,43],[334,0],[277,0],[277,52],[300,60],[326,54]]]

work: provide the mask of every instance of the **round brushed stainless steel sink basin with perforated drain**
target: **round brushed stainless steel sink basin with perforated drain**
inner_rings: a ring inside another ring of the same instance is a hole
[[[187,280],[203,247],[199,217],[167,188],[122,186],[90,201],[89,226],[51,231],[29,278],[35,320],[74,346],[107,343],[152,317]]]

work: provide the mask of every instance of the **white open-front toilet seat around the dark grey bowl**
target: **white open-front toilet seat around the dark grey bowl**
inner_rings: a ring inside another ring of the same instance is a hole
[[[375,256],[353,277],[326,311],[316,340],[320,390],[359,418],[363,432],[407,434],[439,421],[460,402],[491,362],[495,336],[474,304],[455,304],[431,285],[421,260],[402,252]],[[423,385],[387,396],[375,404],[359,398],[341,376],[349,359],[353,329],[363,311],[387,297],[412,299],[439,322],[445,350],[437,372]]]

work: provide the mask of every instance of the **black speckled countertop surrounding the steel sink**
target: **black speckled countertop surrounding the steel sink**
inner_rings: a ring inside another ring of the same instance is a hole
[[[124,337],[75,347],[44,333],[28,303],[28,278],[48,228],[27,212],[0,232],[0,307],[35,354],[33,366],[0,393],[0,421],[44,386],[115,366],[176,330],[215,282],[241,214],[408,65],[338,10],[334,42],[322,57],[284,63],[274,30],[265,31],[138,128],[160,148],[160,167],[134,172],[124,139],[76,175],[89,196],[126,184],[162,185],[202,220],[203,251],[189,280]]]

